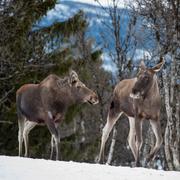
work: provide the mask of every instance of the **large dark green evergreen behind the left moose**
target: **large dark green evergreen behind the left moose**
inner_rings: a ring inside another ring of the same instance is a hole
[[[17,154],[16,90],[22,84],[40,82],[49,73],[66,73],[74,60],[71,39],[86,27],[80,11],[65,22],[37,28],[38,21],[55,4],[52,0],[1,2],[0,146],[3,154]],[[40,129],[39,134],[47,136],[47,131]],[[43,148],[47,142],[38,142],[34,149]]]

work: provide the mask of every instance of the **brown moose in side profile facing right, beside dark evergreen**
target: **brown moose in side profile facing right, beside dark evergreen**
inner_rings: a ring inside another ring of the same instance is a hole
[[[28,156],[28,135],[38,124],[45,124],[51,133],[51,155],[54,146],[56,160],[59,159],[59,124],[68,107],[80,103],[97,104],[98,96],[83,84],[75,71],[63,79],[57,75],[47,76],[39,84],[25,84],[16,92],[18,114],[19,156],[22,156],[24,140],[25,156]]]

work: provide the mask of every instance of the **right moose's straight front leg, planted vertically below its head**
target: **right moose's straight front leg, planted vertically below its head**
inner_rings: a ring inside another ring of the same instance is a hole
[[[140,150],[142,147],[142,119],[135,118],[135,131],[136,131],[136,148],[137,148],[137,156],[136,156],[136,166],[140,166]]]

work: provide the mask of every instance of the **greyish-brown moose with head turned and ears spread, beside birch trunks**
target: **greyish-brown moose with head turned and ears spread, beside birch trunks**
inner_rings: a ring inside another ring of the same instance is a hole
[[[152,161],[162,144],[160,126],[160,93],[156,72],[164,64],[164,60],[153,68],[147,68],[144,61],[140,63],[137,77],[120,81],[113,91],[112,101],[108,111],[107,122],[103,128],[98,162],[104,161],[105,143],[109,134],[121,116],[125,114],[129,119],[128,143],[135,158],[136,166],[140,166],[140,149],[143,143],[142,124],[144,119],[150,121],[156,137],[146,163]]]

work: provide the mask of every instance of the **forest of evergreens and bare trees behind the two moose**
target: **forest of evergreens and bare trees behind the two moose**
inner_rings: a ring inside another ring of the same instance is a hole
[[[74,69],[80,80],[98,93],[100,103],[69,109],[61,125],[61,158],[95,162],[115,84],[134,77],[142,58],[149,67],[164,58],[165,66],[158,74],[164,142],[154,168],[180,170],[179,0],[134,0],[123,7],[118,0],[108,5],[96,1],[97,6],[89,5],[92,11],[101,9],[94,17],[96,22],[81,2],[82,9],[68,19],[42,25],[48,13],[63,2],[0,1],[0,154],[18,154],[16,90],[26,83],[39,83],[51,73],[64,77]],[[73,9],[78,2],[69,5]],[[101,28],[96,31],[98,20]],[[148,122],[143,127],[145,158],[154,135]],[[123,116],[107,143],[109,164],[129,166],[134,161],[128,132]],[[30,157],[48,159],[49,154],[50,134],[46,127],[36,127],[30,134]]]

